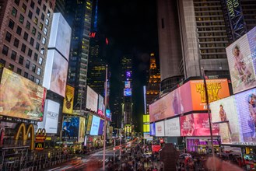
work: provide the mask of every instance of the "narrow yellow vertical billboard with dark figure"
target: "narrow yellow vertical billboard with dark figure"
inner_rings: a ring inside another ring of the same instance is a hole
[[[63,113],[72,114],[73,113],[73,105],[74,105],[74,92],[75,88],[72,86],[66,86],[65,90],[65,99],[63,102]]]

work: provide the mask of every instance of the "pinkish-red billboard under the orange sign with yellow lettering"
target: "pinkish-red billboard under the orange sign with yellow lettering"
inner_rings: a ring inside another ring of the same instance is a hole
[[[208,113],[192,113],[180,117],[181,136],[209,136]],[[212,135],[219,135],[219,124],[212,124]]]

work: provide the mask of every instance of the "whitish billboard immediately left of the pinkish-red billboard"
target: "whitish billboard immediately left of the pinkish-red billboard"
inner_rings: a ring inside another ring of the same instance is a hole
[[[168,137],[180,137],[180,118],[175,117],[170,120],[164,120],[164,134]]]

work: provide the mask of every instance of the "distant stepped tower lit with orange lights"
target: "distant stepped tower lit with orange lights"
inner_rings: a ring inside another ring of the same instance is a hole
[[[156,67],[155,54],[150,54],[149,80],[146,86],[146,114],[149,114],[149,104],[160,92],[160,71]]]

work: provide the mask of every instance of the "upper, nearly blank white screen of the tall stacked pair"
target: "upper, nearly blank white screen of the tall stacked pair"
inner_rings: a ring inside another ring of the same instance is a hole
[[[71,31],[71,27],[65,21],[61,13],[54,13],[48,47],[56,48],[67,60],[70,50]]]

